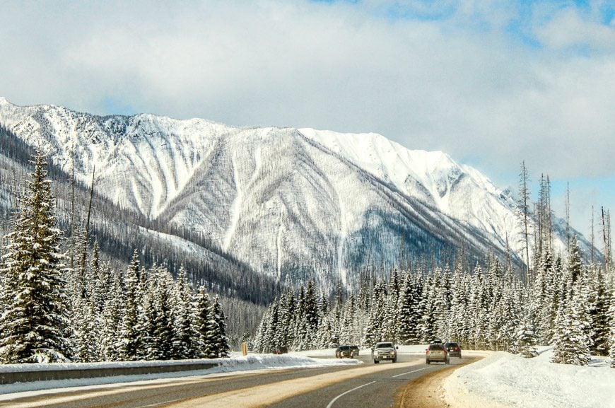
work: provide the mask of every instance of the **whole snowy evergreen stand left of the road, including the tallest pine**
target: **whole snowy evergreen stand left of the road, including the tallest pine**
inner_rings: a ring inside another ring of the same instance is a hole
[[[100,262],[98,245],[88,257],[85,239],[76,240],[81,262],[69,266],[46,168],[38,153],[2,240],[0,362],[228,356],[221,303],[202,286],[194,291],[185,269],[177,279],[165,267],[146,269],[135,251],[115,272]]]

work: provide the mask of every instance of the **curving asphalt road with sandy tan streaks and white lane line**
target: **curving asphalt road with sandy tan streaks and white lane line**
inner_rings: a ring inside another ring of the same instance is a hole
[[[426,365],[423,356],[399,354],[397,363],[301,368],[223,377],[187,377],[147,385],[122,385],[61,393],[38,392],[0,402],[1,408],[239,408],[393,407],[409,381],[445,366]],[[463,360],[452,359],[451,364]]]

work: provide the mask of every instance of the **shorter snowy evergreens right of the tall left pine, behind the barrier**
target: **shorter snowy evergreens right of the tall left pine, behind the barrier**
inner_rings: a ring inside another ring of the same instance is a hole
[[[228,357],[225,315],[216,296],[192,288],[185,269],[145,269],[134,252],[114,272],[98,259],[69,282],[74,361],[169,360]]]

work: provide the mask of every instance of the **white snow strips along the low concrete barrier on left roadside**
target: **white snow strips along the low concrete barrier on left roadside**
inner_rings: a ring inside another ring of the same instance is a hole
[[[330,355],[330,354],[329,354]],[[335,353],[333,354],[335,355]],[[145,364],[160,366],[173,365],[178,363],[186,363],[187,361],[148,361]],[[95,389],[104,387],[117,387],[131,383],[137,383],[164,380],[168,382],[175,378],[176,380],[185,379],[185,377],[199,376],[218,376],[218,375],[233,375],[254,373],[263,370],[284,370],[288,368],[316,368],[324,366],[342,366],[348,364],[360,364],[361,361],[354,359],[314,359],[298,354],[282,354],[280,356],[267,354],[249,354],[248,356],[232,356],[230,359],[211,359],[211,363],[218,363],[219,366],[199,371],[181,371],[175,373],[157,373],[146,375],[117,375],[114,377],[102,378],[83,378],[72,380],[50,380],[50,381],[33,381],[30,383],[16,383],[0,385],[0,401],[10,400],[17,397],[28,397],[30,395],[40,394],[41,390],[47,393],[65,392],[66,387],[80,387],[81,389]],[[78,366],[96,366],[104,367],[126,367],[134,366],[142,361],[119,362],[119,363],[81,363]],[[38,367],[35,367],[38,366]],[[52,367],[55,366],[55,367]],[[36,368],[57,369],[59,366],[75,369],[75,363],[66,364],[11,364],[0,366],[0,372],[7,371],[33,371]],[[73,388],[74,390],[74,388]]]

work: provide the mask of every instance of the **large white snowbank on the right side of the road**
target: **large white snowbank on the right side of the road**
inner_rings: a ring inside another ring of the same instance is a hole
[[[551,363],[551,350],[534,359],[499,351],[445,380],[452,408],[615,408],[615,370],[607,359],[590,366]]]

